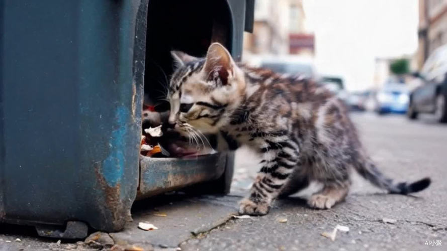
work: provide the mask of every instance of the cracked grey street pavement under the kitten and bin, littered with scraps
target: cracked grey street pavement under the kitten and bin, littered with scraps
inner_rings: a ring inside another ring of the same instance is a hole
[[[236,153],[229,195],[170,193],[139,201],[133,208],[133,221],[122,232],[110,233],[112,243],[103,246],[133,246],[134,250],[447,250],[447,125],[430,116],[409,121],[397,115],[352,113],[352,119],[385,174],[396,181],[428,176],[430,187],[414,196],[388,195],[354,175],[350,194],[332,209],[310,209],[304,200],[291,197],[277,200],[266,216],[233,218],[237,202],[258,171],[255,156],[241,149]],[[138,229],[142,221],[158,229]],[[334,240],[321,235],[336,225],[349,231],[338,231]],[[0,250],[101,248],[83,242],[57,243],[24,227],[7,230],[0,225],[0,229]]]

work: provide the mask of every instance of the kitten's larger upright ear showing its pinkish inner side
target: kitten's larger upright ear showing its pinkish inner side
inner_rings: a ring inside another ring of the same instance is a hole
[[[228,84],[230,74],[234,76],[235,63],[230,53],[219,43],[213,43],[208,48],[205,61],[205,74],[207,81],[215,81],[218,84]]]

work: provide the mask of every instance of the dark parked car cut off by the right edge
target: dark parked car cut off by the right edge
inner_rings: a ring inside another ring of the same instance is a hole
[[[414,76],[421,84],[410,93],[408,118],[432,113],[439,122],[447,122],[447,45],[436,49]]]

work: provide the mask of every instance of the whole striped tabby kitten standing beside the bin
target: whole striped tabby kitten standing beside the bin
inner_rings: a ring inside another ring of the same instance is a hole
[[[240,145],[262,153],[263,167],[239,212],[262,215],[272,201],[324,184],[308,204],[327,209],[343,200],[351,169],[390,193],[425,189],[430,179],[394,184],[365,153],[342,102],[302,77],[236,64],[214,43],[206,58],[173,53],[178,68],[170,81],[169,122],[179,131],[222,132],[231,150]]]

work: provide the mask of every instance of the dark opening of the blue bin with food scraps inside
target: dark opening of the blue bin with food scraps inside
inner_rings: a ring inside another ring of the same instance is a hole
[[[142,112],[143,155],[188,157],[214,153],[214,141],[210,143],[210,139],[202,136],[186,139],[162,127],[163,136],[153,137],[144,130],[158,127],[167,120],[166,90],[174,71],[170,52],[178,50],[203,57],[213,42],[231,50],[230,31],[231,13],[225,0],[149,1]]]

